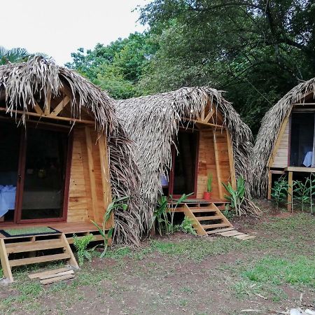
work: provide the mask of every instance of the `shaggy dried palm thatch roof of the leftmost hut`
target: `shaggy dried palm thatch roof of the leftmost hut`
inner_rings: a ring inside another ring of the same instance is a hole
[[[95,127],[104,132],[108,142],[113,196],[130,196],[128,211],[117,211],[116,241],[139,243],[138,191],[139,172],[134,162],[133,144],[116,116],[113,99],[74,71],[57,66],[43,57],[20,64],[0,66],[0,99],[5,99],[7,113],[17,123],[27,123],[27,112],[41,100],[47,106],[48,95],[58,97],[63,87],[71,91],[71,118],[80,120],[81,109],[93,114]],[[20,118],[16,110],[22,111]],[[75,123],[75,121],[74,121]]]

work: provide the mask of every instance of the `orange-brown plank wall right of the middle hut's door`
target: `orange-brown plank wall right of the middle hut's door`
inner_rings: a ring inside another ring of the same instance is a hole
[[[199,163],[198,163],[198,178],[197,178],[197,198],[202,198],[204,191],[207,190],[208,175],[212,174],[212,198],[222,199],[225,189],[222,187],[220,196],[221,182],[228,183],[231,181],[230,162],[228,152],[228,137],[226,130],[216,130],[216,148],[217,158],[219,162],[219,176],[216,168],[216,156],[214,148],[214,130],[203,129],[200,130],[199,142]],[[221,179],[218,183],[218,179]]]

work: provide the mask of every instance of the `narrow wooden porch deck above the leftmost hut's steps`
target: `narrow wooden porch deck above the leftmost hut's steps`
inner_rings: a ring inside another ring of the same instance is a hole
[[[34,223],[34,224],[1,224],[0,225],[0,230],[3,230],[5,228],[9,228],[9,229],[14,229],[14,228],[34,228],[34,227],[40,227],[40,226],[48,226],[50,228],[53,228],[55,230],[58,230],[62,233],[64,233],[64,235],[66,235],[66,238],[68,239],[69,243],[71,244],[72,241],[72,236],[73,234],[76,235],[85,235],[85,234],[99,234],[99,230],[97,230],[97,227],[92,224],[92,223],[84,223],[84,222],[78,222],[78,223],[66,223],[66,222],[58,222],[58,223]],[[4,235],[2,235],[0,233],[0,239],[13,239],[13,238],[22,238],[22,237],[6,237]],[[24,237],[25,238],[25,237]],[[99,237],[96,237],[97,239],[95,240],[99,240]]]

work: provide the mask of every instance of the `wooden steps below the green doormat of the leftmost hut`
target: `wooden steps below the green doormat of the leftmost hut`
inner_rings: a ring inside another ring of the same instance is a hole
[[[64,233],[1,238],[0,259],[6,283],[13,282],[11,267],[16,266],[66,260],[71,267],[78,269]]]

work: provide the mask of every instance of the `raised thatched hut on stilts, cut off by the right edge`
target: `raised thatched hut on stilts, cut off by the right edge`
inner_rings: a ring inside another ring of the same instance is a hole
[[[292,157],[290,160],[292,114],[306,113],[306,116],[309,116],[314,113],[314,90],[315,78],[300,83],[269,109],[262,119],[251,159],[254,196],[267,196],[268,174],[270,179],[272,175],[270,172],[285,174],[288,167],[293,167]],[[313,133],[314,130],[311,130],[311,134]],[[295,166],[302,165],[299,161]],[[268,195],[271,191],[271,180],[269,184]]]

